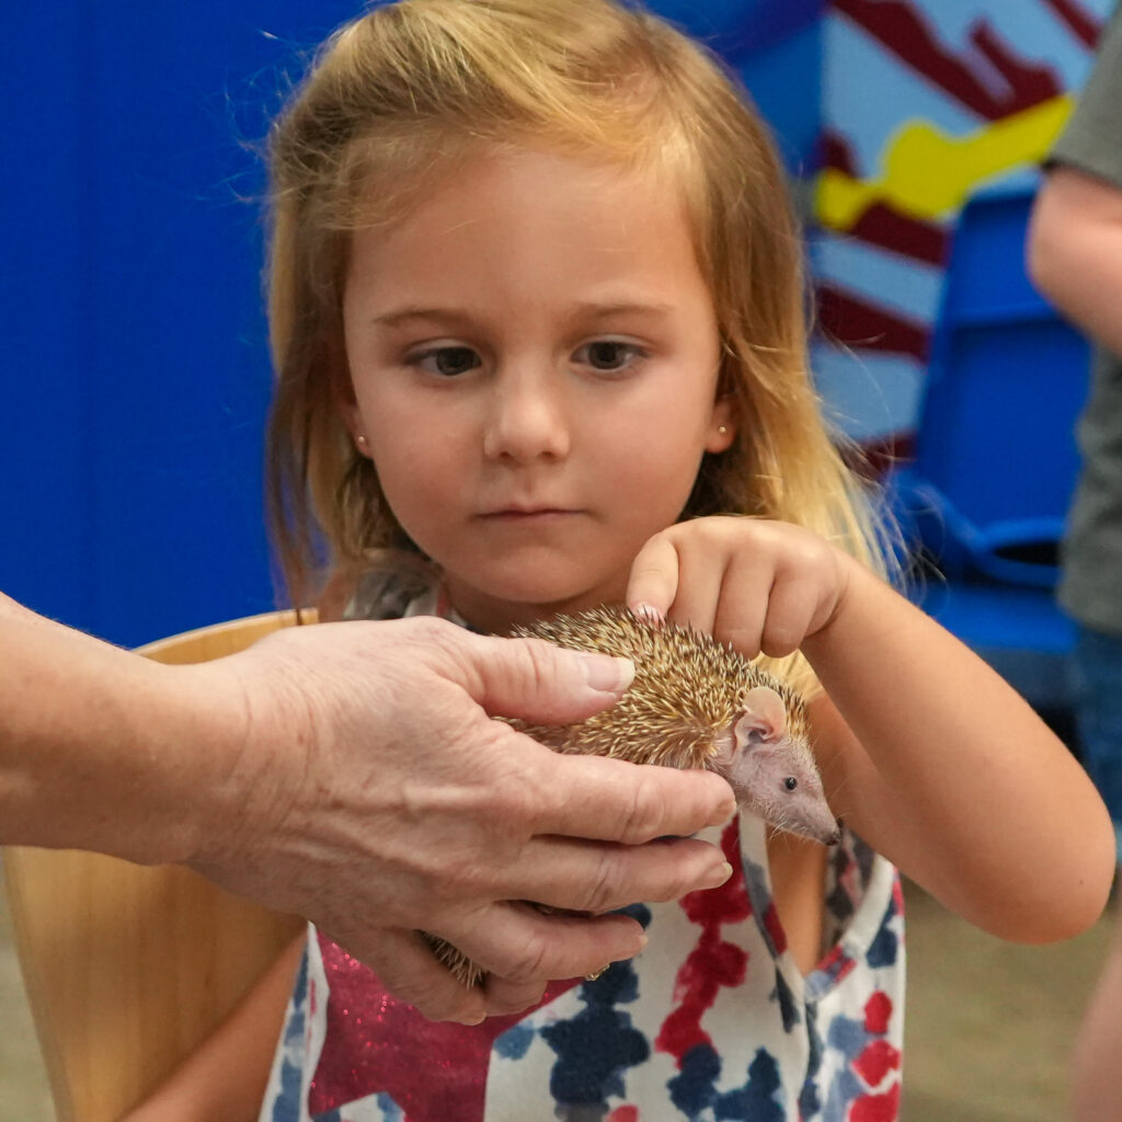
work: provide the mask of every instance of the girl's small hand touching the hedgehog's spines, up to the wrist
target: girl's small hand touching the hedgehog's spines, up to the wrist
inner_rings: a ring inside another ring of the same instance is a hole
[[[632,565],[627,606],[709,632],[747,657],[782,657],[838,613],[856,562],[785,522],[710,517],[655,534]]]

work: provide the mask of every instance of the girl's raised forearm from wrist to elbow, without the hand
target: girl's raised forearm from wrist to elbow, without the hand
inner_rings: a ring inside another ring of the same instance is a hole
[[[852,568],[837,615],[803,644],[829,695],[815,721],[835,810],[993,935],[1082,931],[1114,868],[1110,818],[1083,769],[981,659]]]

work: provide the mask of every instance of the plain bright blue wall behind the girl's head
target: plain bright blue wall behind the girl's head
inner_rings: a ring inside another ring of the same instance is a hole
[[[792,168],[819,0],[664,0]],[[341,0],[13,4],[0,42],[0,589],[118,643],[274,606],[254,150]]]

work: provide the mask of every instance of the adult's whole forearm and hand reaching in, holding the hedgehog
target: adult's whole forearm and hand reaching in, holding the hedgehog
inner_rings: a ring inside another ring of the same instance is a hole
[[[287,628],[165,666],[0,598],[0,843],[188,865],[314,920],[433,1018],[531,1003],[643,945],[599,912],[720,883],[701,772],[558,756],[488,714],[577,720],[613,660],[435,619]],[[416,934],[495,975],[466,991]]]

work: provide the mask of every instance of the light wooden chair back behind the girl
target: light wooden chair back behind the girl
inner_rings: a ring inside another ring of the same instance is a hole
[[[294,613],[269,613],[138,653],[205,662],[294,623]],[[173,865],[8,847],[3,870],[59,1122],[117,1122],[227,1015],[301,926]]]

